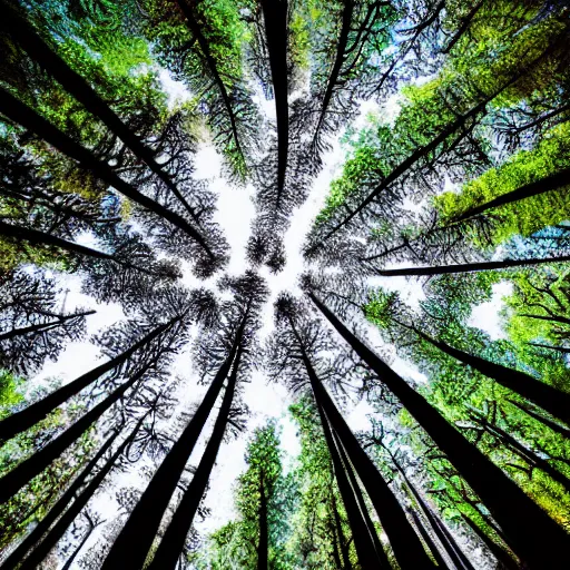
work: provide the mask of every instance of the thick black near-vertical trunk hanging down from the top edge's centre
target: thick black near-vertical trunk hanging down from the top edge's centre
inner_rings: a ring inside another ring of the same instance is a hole
[[[277,117],[277,208],[285,187],[289,145],[287,102],[287,0],[261,0]]]

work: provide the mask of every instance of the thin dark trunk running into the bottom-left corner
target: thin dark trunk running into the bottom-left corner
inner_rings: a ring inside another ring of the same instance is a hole
[[[21,563],[24,556],[32,549],[39,541],[41,537],[46,534],[51,524],[61,515],[61,513],[66,510],[67,505],[75,499],[77,492],[83,485],[86,479],[92,473],[95,466],[99,462],[99,460],[105,455],[107,450],[112,445],[114,441],[117,439],[119,434],[119,430],[116,430],[114,434],[107,439],[107,441],[101,445],[99,451],[94,455],[94,458],[87,463],[87,465],[82,469],[81,473],[77,475],[68,490],[58,499],[56,504],[49,510],[49,512],[41,519],[41,521],[33,528],[33,530],[18,544],[17,549],[13,550],[10,556],[3,561],[1,569],[2,570],[13,570]]]

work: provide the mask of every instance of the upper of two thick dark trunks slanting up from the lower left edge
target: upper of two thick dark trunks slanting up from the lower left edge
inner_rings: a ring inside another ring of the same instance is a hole
[[[36,425],[38,422],[43,420],[48,414],[53,412],[56,407],[63,404],[71,396],[78,394],[81,390],[87,387],[89,384],[95,382],[97,379],[101,377],[107,372],[120,366],[125,362],[127,362],[130,356],[138,351],[139,348],[151,343],[160,333],[170,328],[176,322],[180,321],[183,316],[177,316],[173,318],[169,323],[165,325],[157,326],[150,333],[145,335],[140,341],[135,343],[130,348],[121,352],[110,361],[97,366],[96,368],[82,374],[78,379],[73,380],[69,384],[61,386],[51,394],[47,395],[39,402],[29,405],[21,412],[16,412],[10,415],[6,420],[0,422],[0,442],[9,440],[13,438],[18,433],[28,430],[32,425]]]

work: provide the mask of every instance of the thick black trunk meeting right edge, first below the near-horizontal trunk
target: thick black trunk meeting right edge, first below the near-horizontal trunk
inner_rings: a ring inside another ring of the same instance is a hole
[[[463,364],[468,364],[472,368],[481,372],[481,374],[493,379],[501,386],[508,387],[530,402],[533,402],[562,422],[570,423],[570,394],[561,392],[524,372],[512,370],[502,364],[495,364],[480,356],[473,356],[459,348],[454,348],[449,344],[428,336],[414,326],[407,328],[413,330],[420,338],[445,354],[456,358]]]

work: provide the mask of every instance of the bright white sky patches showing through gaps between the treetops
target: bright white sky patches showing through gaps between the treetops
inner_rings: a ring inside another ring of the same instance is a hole
[[[170,97],[171,106],[174,106],[176,101],[188,97],[188,92],[184,86],[174,81],[166,71],[163,70],[160,72],[160,79]],[[259,98],[258,102],[263,111],[271,118],[274,114],[273,101],[264,101]],[[376,108],[372,104],[366,104],[363,105],[361,110],[361,116],[356,119],[357,127],[362,126],[366,115],[371,110],[376,110]],[[385,117],[390,120],[396,111],[397,97],[391,98],[389,101],[384,109]],[[338,142],[341,135],[332,141],[331,151],[324,156],[323,170],[315,179],[308,199],[292,216],[291,227],[284,240],[287,256],[287,264],[284,271],[277,275],[272,275],[266,268],[261,269],[261,274],[266,278],[271,291],[271,298],[263,309],[263,327],[262,331],[259,331],[262,341],[266,338],[273,330],[272,305],[276,296],[283,291],[299,293],[297,278],[304,271],[301,254],[302,244],[313,219],[324,205],[331,180],[340,174],[345,154]],[[255,215],[254,205],[252,203],[254,188],[250,185],[243,188],[230,187],[226,180],[220,177],[220,157],[212,145],[200,145],[195,158],[195,165],[196,177],[207,180],[210,190],[218,195],[215,220],[224,228],[232,249],[227,273],[232,275],[243,274],[247,268],[245,246],[249,237],[250,222]],[[89,342],[89,336],[106,330],[124,318],[120,305],[99,304],[91,297],[81,294],[81,279],[78,275],[62,275],[59,282],[63,284],[63,288],[66,289],[66,309],[71,311],[81,306],[96,308],[97,313],[87,317],[87,341],[68,344],[56,362],[48,362],[40,373],[35,379],[31,379],[32,384],[43,383],[49,377],[58,377],[66,384],[100,364],[100,351]],[[184,273],[183,283],[188,287],[194,287],[199,284],[191,275],[189,268]],[[417,306],[417,303],[423,298],[421,284],[417,279],[384,277],[375,279],[373,284],[399,291],[402,298],[412,306]],[[491,301],[473,309],[469,324],[487,331],[493,340],[503,337],[504,333],[501,328],[499,313],[502,306],[502,297],[505,294],[509,294],[509,289],[504,284],[500,283],[495,285]],[[383,346],[384,343],[379,331],[370,324],[363,323],[363,325],[366,331],[366,341],[371,346]],[[426,382],[426,377],[413,365],[400,358],[393,347],[389,347],[389,353],[392,365],[399,373],[417,383]],[[200,401],[205,387],[197,385],[197,377],[191,367],[191,358],[187,352],[176,358],[171,372],[174,376],[184,379],[177,392],[179,405],[173,414],[174,420],[179,415],[179,412],[187,411],[193,403]],[[249,407],[247,429],[238,439],[225,442],[220,449],[210,479],[209,492],[205,500],[205,505],[212,510],[212,514],[205,521],[196,524],[197,530],[204,534],[219,528],[236,514],[233,508],[235,478],[246,468],[244,453],[248,435],[255,428],[264,425],[267,420],[272,417],[278,420],[286,470],[294,466],[294,460],[299,452],[296,428],[287,414],[287,407],[293,400],[286,387],[268,384],[262,371],[255,372],[250,384],[245,387],[244,401]],[[352,430],[360,431],[368,426],[370,423],[366,416],[372,413],[372,409],[365,401],[361,401],[357,404],[348,403],[344,413]],[[204,445],[209,436],[213,421],[214,419],[210,417],[190,458],[189,464],[196,465],[199,461]],[[127,474],[114,475],[112,485],[144,485],[144,481],[138,475],[138,471],[139,469],[137,468]],[[107,489],[109,489],[109,487]],[[92,505],[108,520],[117,512],[117,504],[112,500],[109,491],[99,494]],[[100,534],[95,532],[82,552],[86,552],[86,550],[100,539]],[[79,568],[77,562],[72,568]]]

